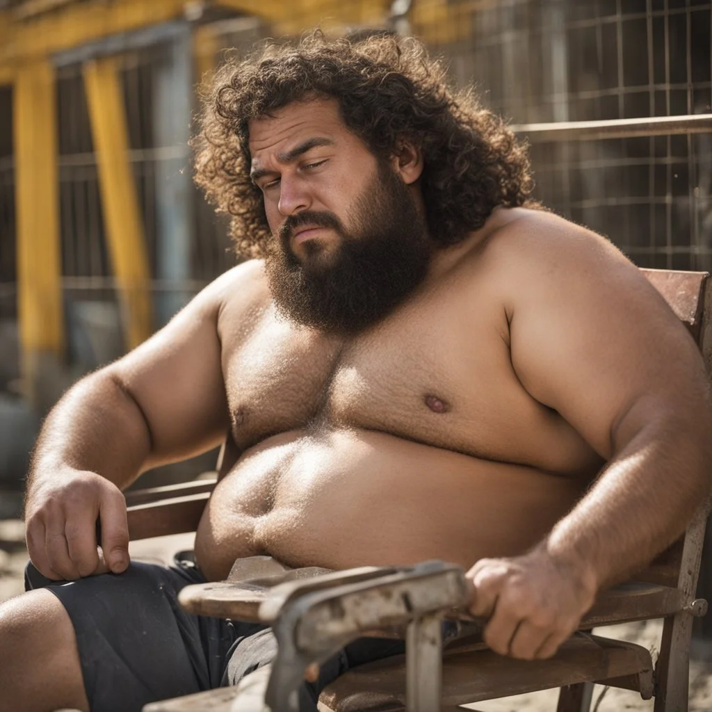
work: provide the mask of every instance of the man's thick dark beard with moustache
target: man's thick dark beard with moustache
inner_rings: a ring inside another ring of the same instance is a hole
[[[388,164],[379,162],[374,185],[356,201],[352,224],[348,234],[332,213],[307,211],[286,219],[265,262],[278,313],[310,328],[355,335],[391,313],[423,281],[431,256],[425,220]],[[293,254],[290,236],[299,225],[337,232],[340,245],[328,263],[322,263],[318,243],[311,245],[308,263]]]

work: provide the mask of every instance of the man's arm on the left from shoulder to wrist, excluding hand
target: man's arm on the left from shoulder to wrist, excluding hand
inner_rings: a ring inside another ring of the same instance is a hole
[[[219,283],[147,342],[75,384],[38,439],[29,488],[48,467],[91,470],[121,488],[147,468],[215,444],[228,419]]]

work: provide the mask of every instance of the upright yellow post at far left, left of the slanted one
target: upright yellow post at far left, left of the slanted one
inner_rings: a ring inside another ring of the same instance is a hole
[[[18,68],[13,105],[22,378],[36,402],[43,363],[60,358],[64,345],[56,83],[48,61]]]

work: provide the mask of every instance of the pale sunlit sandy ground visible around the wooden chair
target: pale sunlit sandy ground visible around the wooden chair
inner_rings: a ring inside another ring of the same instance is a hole
[[[23,533],[23,523],[20,520],[0,520],[0,601],[23,592],[23,570],[27,561]],[[142,552],[144,557],[161,557],[162,547],[158,541],[154,540],[154,542]],[[646,621],[609,626],[597,629],[595,633],[643,645],[653,651],[655,658],[659,648],[661,627],[659,621]],[[692,653],[689,711],[712,712],[712,644],[695,644]],[[557,694],[556,690],[546,690],[478,702],[472,706],[465,706],[464,709],[471,708],[479,712],[554,712]],[[642,700],[637,693],[631,691],[603,689],[597,685],[593,693],[591,710],[592,712],[652,712],[653,701]]]

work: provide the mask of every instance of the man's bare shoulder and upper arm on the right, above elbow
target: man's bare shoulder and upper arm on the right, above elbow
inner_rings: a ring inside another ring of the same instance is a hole
[[[649,412],[702,392],[699,352],[665,300],[604,237],[544,211],[518,210],[483,241],[478,275],[507,316],[525,389],[602,456],[631,404]],[[701,411],[702,405],[698,405]]]

